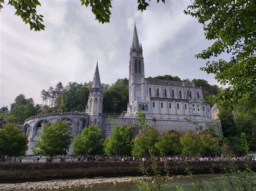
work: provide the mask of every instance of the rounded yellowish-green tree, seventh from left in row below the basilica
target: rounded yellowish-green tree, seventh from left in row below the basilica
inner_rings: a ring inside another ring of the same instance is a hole
[[[180,143],[184,155],[198,156],[203,152],[199,135],[192,131],[187,131],[181,136]]]

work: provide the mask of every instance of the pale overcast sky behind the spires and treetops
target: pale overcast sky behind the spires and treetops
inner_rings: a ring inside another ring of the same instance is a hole
[[[8,2],[8,1],[6,1]],[[134,20],[143,46],[145,77],[164,74],[181,79],[201,78],[217,84],[200,71],[204,60],[194,54],[212,44],[202,25],[183,10],[190,0],[152,0],[143,13],[137,0],[113,0],[110,23],[100,24],[79,0],[41,0],[45,31],[30,31],[15,10],[4,4],[0,12],[0,107],[19,94],[41,104],[40,92],[61,81],[92,80],[98,57],[100,80],[112,84],[129,77],[129,52]]]

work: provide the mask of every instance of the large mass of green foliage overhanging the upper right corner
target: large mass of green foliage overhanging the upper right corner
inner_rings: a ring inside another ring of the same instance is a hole
[[[220,88],[219,105],[243,103],[247,108],[255,108],[255,1],[197,0],[184,12],[203,24],[206,39],[214,40],[196,58],[207,60],[201,70],[215,74],[221,85],[228,85]],[[230,55],[230,60],[212,59],[224,52]]]

